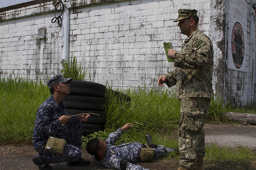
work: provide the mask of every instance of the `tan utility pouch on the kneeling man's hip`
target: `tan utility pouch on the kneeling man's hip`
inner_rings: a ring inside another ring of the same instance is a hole
[[[57,137],[49,136],[45,150],[50,151],[56,155],[61,155],[63,152],[64,145],[66,143],[65,139],[59,139]]]

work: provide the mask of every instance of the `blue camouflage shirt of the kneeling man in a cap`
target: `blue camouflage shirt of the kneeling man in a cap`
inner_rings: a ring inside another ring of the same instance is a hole
[[[68,115],[66,104],[63,100],[58,104],[53,95],[38,107],[33,129],[33,146],[37,152],[45,151],[45,145],[50,135],[65,139],[67,135],[66,125],[80,123],[77,116],[74,116],[66,125],[62,126],[58,120],[62,115]]]

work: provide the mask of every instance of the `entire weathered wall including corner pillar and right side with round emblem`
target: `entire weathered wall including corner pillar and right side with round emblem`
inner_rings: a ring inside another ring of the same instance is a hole
[[[70,56],[76,57],[84,68],[89,67],[94,82],[114,88],[158,87],[158,77],[174,69],[173,63],[166,61],[163,42],[172,42],[179,51],[186,38],[173,22],[177,11],[194,8],[200,17],[199,30],[214,43],[215,93],[224,95],[231,104],[245,105],[253,99],[255,23],[249,17],[254,14],[252,0],[63,0],[61,27],[51,23],[56,2],[38,0],[0,9],[2,78],[19,74],[47,80],[59,72],[60,62]],[[239,69],[230,52],[230,30],[237,21],[245,37],[244,62]],[[46,38],[37,39],[38,29],[42,28]]]

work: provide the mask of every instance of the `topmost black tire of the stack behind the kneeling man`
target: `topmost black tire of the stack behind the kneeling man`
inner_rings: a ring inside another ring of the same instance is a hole
[[[105,96],[105,86],[99,83],[73,80],[70,84],[71,95]]]

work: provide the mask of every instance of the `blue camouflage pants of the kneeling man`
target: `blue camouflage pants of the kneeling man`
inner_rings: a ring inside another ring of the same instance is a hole
[[[42,156],[48,164],[73,162],[77,161],[82,156],[82,124],[77,123],[63,125],[63,130],[60,133],[61,138],[66,139],[66,143],[62,152],[63,154],[56,155],[52,152],[44,151]]]

